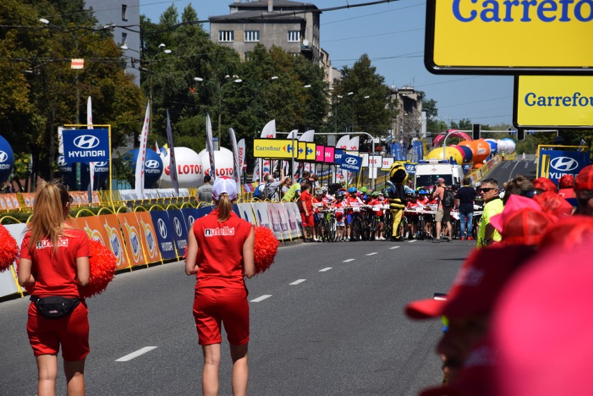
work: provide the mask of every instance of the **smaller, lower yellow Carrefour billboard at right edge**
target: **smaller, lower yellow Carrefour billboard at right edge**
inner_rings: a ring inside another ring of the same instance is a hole
[[[516,127],[593,126],[593,76],[516,77],[513,123]]]

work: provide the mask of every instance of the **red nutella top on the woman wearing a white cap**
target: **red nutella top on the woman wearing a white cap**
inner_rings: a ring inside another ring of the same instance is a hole
[[[243,244],[251,232],[251,223],[235,212],[231,212],[228,220],[222,223],[218,216],[218,209],[214,209],[193,223],[193,235],[198,241],[196,289],[243,289]]]

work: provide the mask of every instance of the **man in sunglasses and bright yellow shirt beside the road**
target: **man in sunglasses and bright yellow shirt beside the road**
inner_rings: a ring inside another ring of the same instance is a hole
[[[498,180],[496,179],[482,180],[482,184],[480,184],[480,188],[476,192],[484,201],[484,212],[480,219],[480,228],[477,229],[475,246],[477,248],[483,248],[501,239],[500,232],[491,225],[490,219],[492,216],[503,212],[504,205],[503,200],[498,195]]]

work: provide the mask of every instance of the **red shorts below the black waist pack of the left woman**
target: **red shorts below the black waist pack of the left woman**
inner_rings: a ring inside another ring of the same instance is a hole
[[[37,314],[35,303],[29,305],[26,333],[35,356],[56,355],[62,345],[65,361],[81,361],[88,355],[88,308],[81,301],[72,313],[60,319],[47,319]]]

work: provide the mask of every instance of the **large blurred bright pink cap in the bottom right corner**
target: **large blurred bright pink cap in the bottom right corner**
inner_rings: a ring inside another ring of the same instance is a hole
[[[593,395],[591,244],[537,255],[493,315],[497,395]]]

